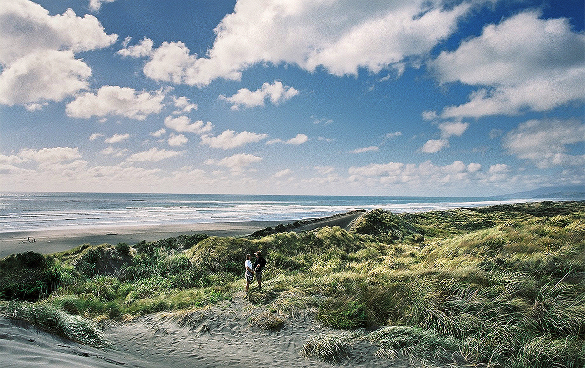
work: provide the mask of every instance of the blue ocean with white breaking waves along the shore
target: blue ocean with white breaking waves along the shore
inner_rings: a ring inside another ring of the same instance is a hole
[[[534,200],[480,197],[366,197],[336,195],[0,193],[0,233],[234,221],[319,218],[353,209],[395,213],[477,207]]]

